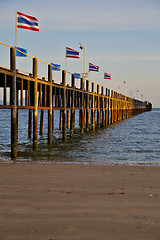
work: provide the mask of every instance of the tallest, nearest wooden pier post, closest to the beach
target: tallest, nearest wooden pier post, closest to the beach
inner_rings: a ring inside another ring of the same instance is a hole
[[[12,70],[12,84],[11,84],[11,158],[17,157],[17,90],[16,90],[16,49],[10,49],[10,69]]]

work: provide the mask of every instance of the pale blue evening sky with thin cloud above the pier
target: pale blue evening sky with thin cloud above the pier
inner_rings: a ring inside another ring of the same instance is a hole
[[[148,100],[160,107],[160,1],[159,0],[0,0],[0,41],[15,44],[15,12],[35,16],[39,32],[18,29],[18,46],[46,62],[65,66],[65,47],[86,47],[88,63],[100,66],[90,80],[105,87]],[[9,66],[9,51],[0,45],[0,64]],[[17,59],[17,68],[31,71],[29,59]],[[39,66],[39,75],[46,75]],[[67,70],[83,71],[80,60],[68,59]],[[53,72],[54,78],[58,78]],[[137,92],[138,90],[138,92]]]

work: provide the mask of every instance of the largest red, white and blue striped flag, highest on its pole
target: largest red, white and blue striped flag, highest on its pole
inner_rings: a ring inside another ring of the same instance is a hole
[[[38,20],[35,17],[17,12],[17,28],[39,31]]]

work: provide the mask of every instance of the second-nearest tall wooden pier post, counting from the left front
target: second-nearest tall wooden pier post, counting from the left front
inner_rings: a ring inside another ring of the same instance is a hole
[[[38,150],[38,106],[37,106],[37,58],[33,58],[33,77],[34,77],[34,110],[33,110],[33,150]]]

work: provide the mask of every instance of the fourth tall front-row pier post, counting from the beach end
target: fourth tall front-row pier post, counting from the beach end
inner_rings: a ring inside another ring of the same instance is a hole
[[[66,71],[62,71],[62,84],[63,84],[63,96],[62,96],[62,101],[63,101],[63,121],[62,121],[62,135],[63,135],[63,141],[66,140]]]

